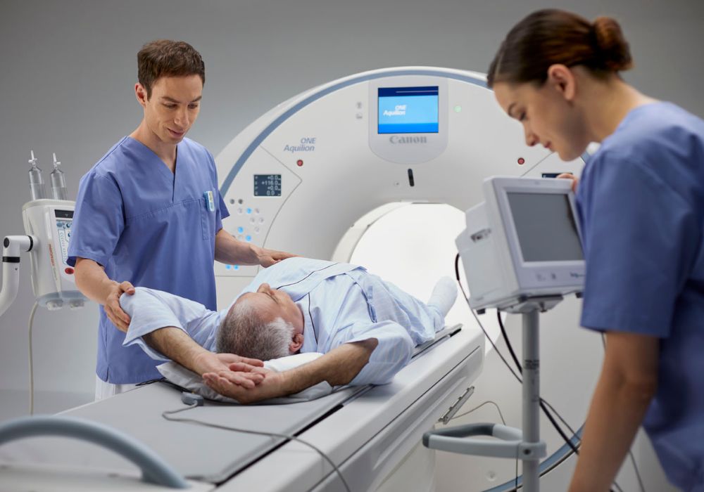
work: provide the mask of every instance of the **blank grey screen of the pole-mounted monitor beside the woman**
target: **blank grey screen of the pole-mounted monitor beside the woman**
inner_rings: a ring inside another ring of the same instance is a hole
[[[523,261],[584,259],[567,195],[511,192],[507,195]]]

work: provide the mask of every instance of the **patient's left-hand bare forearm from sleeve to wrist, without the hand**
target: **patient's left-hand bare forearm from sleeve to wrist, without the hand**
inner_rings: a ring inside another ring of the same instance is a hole
[[[149,347],[180,363],[184,368],[202,375],[212,370],[208,365],[209,351],[203,349],[183,330],[174,327],[159,328],[142,337]]]

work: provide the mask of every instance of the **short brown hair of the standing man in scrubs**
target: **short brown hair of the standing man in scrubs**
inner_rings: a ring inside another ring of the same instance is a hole
[[[151,97],[151,88],[160,77],[199,75],[206,83],[206,65],[201,53],[184,41],[157,39],[137,53],[137,79]]]

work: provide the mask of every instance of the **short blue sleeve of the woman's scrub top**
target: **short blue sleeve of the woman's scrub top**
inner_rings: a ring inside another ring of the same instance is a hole
[[[691,206],[648,167],[609,153],[589,163],[580,188],[582,325],[667,337],[698,248]]]

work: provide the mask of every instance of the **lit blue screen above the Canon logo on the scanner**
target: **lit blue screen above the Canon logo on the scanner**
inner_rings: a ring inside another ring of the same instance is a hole
[[[436,134],[438,86],[379,87],[379,134]]]

